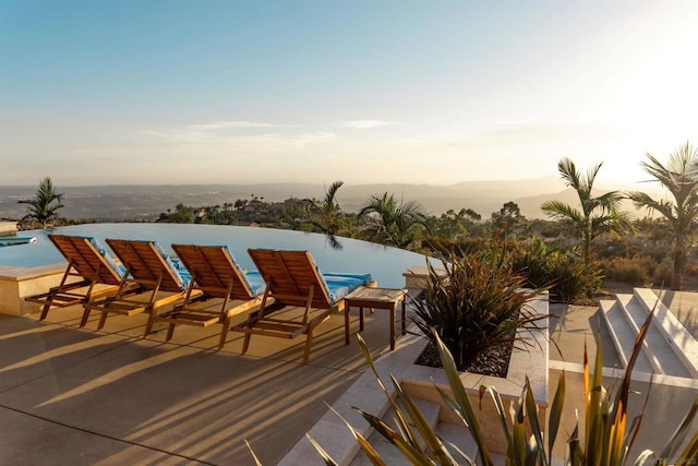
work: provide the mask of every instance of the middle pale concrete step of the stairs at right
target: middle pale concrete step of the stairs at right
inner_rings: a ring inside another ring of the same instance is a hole
[[[616,299],[637,335],[647,320],[647,308],[635,295],[617,295]],[[653,372],[689,378],[690,373],[678,359],[674,348],[672,348],[666,340],[666,336],[655,323],[657,319],[653,319],[642,342],[642,351],[652,366]]]

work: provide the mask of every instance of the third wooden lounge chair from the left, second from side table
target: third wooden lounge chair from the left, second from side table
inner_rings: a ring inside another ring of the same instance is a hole
[[[261,278],[256,283],[249,280],[225,246],[172,244],[172,250],[191,274],[193,286],[202,294],[177,304],[172,310],[161,314],[156,312],[153,321],[170,324],[166,342],[172,337],[178,324],[201,327],[222,324],[218,343],[220,349],[226,343],[230,319],[262,302],[260,295],[264,283]],[[209,306],[208,301],[214,299],[219,300],[220,304]]]

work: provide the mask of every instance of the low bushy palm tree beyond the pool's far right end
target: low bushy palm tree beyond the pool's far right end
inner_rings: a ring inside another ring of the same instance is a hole
[[[426,227],[426,215],[419,203],[402,203],[393,194],[372,194],[359,211],[359,218],[369,224],[371,240],[385,246],[407,249],[416,239],[418,226]]]

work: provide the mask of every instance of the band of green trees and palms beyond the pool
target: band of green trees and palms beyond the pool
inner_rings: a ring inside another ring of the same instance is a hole
[[[687,268],[689,275],[694,271],[698,275],[691,254],[698,214],[698,150],[687,142],[670,155],[666,164],[647,154],[641,166],[673,199],[658,200],[643,192],[619,191],[595,196],[593,182],[602,164],[581,172],[570,159],[563,158],[557,165],[558,172],[577,192],[579,203],[576,206],[559,201],[543,203],[541,208],[550,220],[526,218],[515,202],[503,204],[486,219],[467,207],[431,215],[419,203],[388,192],[371,195],[359,212],[344,212],[337,200],[344,182],[335,181],[322,200],[290,198],[268,202],[251,194],[249,199],[222,205],[180,203],[173,211],[160,213],[156,222],[314,231],[326,235],[337,248],[346,237],[425,254],[483,249],[493,241],[505,241],[516,248],[531,244],[539,248],[542,242],[547,250],[573,252],[586,266],[598,263],[606,276],[661,279],[677,290]],[[634,218],[630,213],[621,212],[623,199],[631,200],[639,212],[652,216]],[[48,228],[67,222],[59,216],[62,194],[48,177],[41,180],[33,199],[20,202],[28,205],[21,220],[24,227]],[[671,264],[666,256],[671,256]],[[651,273],[642,276],[641,268]]]

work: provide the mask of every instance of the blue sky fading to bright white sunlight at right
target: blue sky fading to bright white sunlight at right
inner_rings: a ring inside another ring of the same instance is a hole
[[[0,0],[0,186],[452,184],[698,145],[698,2]]]

